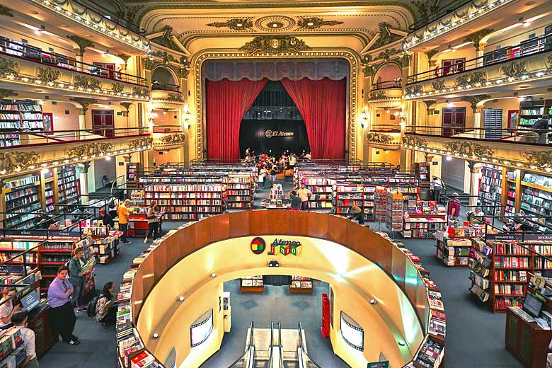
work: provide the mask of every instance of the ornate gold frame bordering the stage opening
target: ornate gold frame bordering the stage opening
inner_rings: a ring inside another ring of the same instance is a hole
[[[357,130],[356,130],[356,117],[357,117],[357,78],[360,67],[360,55],[357,52],[343,49],[343,50],[326,50],[326,51],[314,51],[308,50],[303,52],[285,53],[272,55],[268,53],[259,53],[248,55],[241,51],[204,51],[198,52],[192,57],[192,65],[194,66],[195,77],[195,122],[196,122],[196,154],[198,159],[203,158],[203,148],[205,137],[203,132],[205,131],[205,120],[203,110],[203,88],[202,88],[202,76],[201,69],[202,64],[209,59],[312,59],[312,58],[341,58],[346,59],[350,66],[349,76],[349,111],[347,113],[346,127],[348,137],[345,141],[345,152],[348,154],[349,159],[356,159],[357,157]],[[190,107],[191,108],[191,107]]]

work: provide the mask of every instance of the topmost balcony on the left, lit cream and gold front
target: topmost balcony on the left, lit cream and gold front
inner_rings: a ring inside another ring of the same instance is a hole
[[[144,30],[90,0],[4,0],[2,5],[18,23],[38,21],[60,35],[70,30],[96,45],[127,54],[151,52]]]

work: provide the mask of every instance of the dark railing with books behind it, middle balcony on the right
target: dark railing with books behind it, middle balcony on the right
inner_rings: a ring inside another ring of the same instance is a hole
[[[413,74],[408,76],[408,84],[427,81],[428,79],[437,79],[443,76],[450,76],[452,74],[459,74],[467,70],[488,67],[502,62],[510,62],[513,59],[519,59],[520,57],[526,57],[551,50],[552,34],[543,35],[539,38],[531,38],[531,40],[526,40],[518,45],[502,47],[501,49],[488,52],[483,54],[481,57],[476,57],[475,59],[457,62],[449,65],[448,67],[437,67],[434,70]]]

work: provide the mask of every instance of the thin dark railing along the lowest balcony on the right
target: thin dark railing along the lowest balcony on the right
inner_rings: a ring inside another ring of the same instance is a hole
[[[500,129],[471,127],[419,127],[408,125],[407,133],[432,135],[438,137],[454,137],[481,139],[501,143],[526,143],[537,145],[552,144],[552,128],[546,129]]]

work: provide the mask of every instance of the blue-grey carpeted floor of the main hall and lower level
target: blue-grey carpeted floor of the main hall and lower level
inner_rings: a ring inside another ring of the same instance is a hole
[[[289,185],[284,190],[289,190]],[[258,193],[266,197],[268,190]],[[163,224],[164,230],[178,226],[176,222]],[[384,226],[381,226],[384,229]],[[377,226],[372,226],[377,229]],[[144,248],[143,238],[131,238],[132,243],[121,246],[121,255],[108,265],[98,265],[96,285],[120,282],[132,258]],[[425,268],[440,287],[447,311],[447,368],[518,368],[522,364],[504,347],[505,315],[492,314],[468,292],[467,268],[449,268],[435,258],[435,241],[404,241],[422,260]],[[289,294],[286,287],[267,287],[264,294],[240,294],[237,281],[224,285],[232,293],[232,330],[224,336],[219,353],[213,355],[202,368],[224,368],[243,352],[246,330],[251,320],[257,327],[268,327],[271,321],[280,321],[284,328],[297,328],[301,321],[306,330],[306,344],[312,358],[323,368],[347,367],[333,355],[328,339],[320,333],[321,293],[327,284],[315,282],[314,294]],[[57,343],[40,360],[42,368],[115,368],[115,331],[105,330],[84,315],[79,316],[75,328],[81,345]]]

